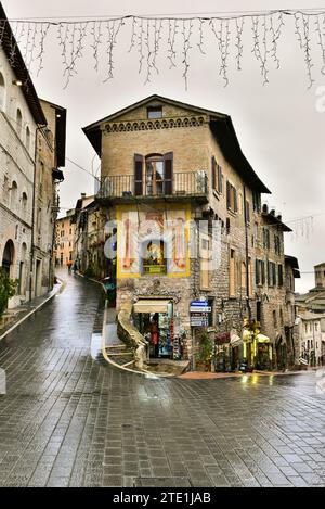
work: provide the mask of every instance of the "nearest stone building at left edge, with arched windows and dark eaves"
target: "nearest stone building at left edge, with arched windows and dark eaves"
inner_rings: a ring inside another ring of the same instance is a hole
[[[5,13],[0,4],[0,18]],[[10,60],[9,24],[0,47],[0,265],[18,280],[9,302],[15,307],[30,298],[35,137],[47,124],[18,49]]]

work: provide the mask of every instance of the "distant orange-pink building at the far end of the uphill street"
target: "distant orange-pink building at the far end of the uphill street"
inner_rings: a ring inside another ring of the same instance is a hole
[[[65,217],[56,220],[54,263],[55,267],[66,267],[69,262],[74,262],[75,230],[74,222],[75,208],[67,211]]]

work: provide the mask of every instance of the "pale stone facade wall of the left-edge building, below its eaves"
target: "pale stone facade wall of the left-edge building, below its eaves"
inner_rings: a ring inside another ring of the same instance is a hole
[[[9,307],[15,307],[28,298],[29,291],[36,124],[21,88],[12,84],[15,76],[1,49],[0,73],[4,79],[4,100],[0,106],[0,265],[5,244],[11,240],[14,253],[10,275],[15,279],[22,275],[21,294],[9,302]],[[23,200],[23,193],[26,200]]]

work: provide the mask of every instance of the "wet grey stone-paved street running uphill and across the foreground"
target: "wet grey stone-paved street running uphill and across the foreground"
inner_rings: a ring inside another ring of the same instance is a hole
[[[100,297],[69,276],[0,343],[1,486],[325,486],[315,374],[122,372],[95,354]]]

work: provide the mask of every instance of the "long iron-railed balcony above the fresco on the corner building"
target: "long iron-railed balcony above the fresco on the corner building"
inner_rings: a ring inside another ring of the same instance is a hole
[[[134,180],[133,175],[110,175],[99,181],[100,201],[132,203],[138,200],[179,202],[195,199],[208,202],[208,178],[204,170],[178,171],[171,180]]]

